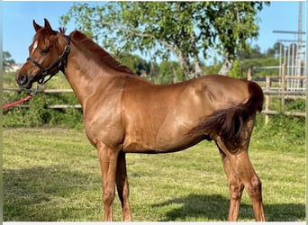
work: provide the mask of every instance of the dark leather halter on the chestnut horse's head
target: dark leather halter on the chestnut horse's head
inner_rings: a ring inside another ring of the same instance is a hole
[[[55,61],[54,63],[50,65],[50,67],[45,68],[40,63],[38,63],[35,59],[30,58],[30,57],[27,58],[27,61],[31,61],[36,67],[41,68],[41,79],[38,81],[40,85],[43,85],[46,82],[48,82],[52,76],[55,76],[59,72],[59,70],[64,72],[64,68],[66,67],[66,64],[67,64],[68,53],[70,50],[69,36],[67,36],[67,40],[68,40],[68,43],[65,46],[63,53],[59,56],[57,61]],[[54,67],[58,67],[58,70],[51,73],[50,70],[53,69]],[[45,80],[46,76],[49,76],[49,77]]]

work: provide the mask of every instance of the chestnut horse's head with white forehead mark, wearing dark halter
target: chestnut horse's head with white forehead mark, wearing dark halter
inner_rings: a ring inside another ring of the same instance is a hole
[[[68,36],[67,43],[59,41],[59,32],[53,31],[46,19],[44,27],[35,21],[33,26],[36,34],[29,46],[29,58],[15,76],[17,84],[27,89],[32,87],[33,82],[46,83],[51,76],[64,69],[70,44]],[[47,76],[49,78],[46,79]]]

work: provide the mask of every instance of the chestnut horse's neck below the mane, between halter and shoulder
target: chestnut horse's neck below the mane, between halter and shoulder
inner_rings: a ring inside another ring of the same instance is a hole
[[[110,72],[104,71],[104,67],[97,65],[94,60],[86,58],[73,43],[68,54],[65,76],[83,107],[86,99],[95,94],[98,86],[104,89],[104,85],[114,77]]]

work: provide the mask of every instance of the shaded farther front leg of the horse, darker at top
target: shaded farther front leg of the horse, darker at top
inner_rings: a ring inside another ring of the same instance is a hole
[[[124,152],[119,153],[115,178],[119,198],[122,203],[123,221],[131,221],[131,210],[129,203],[130,189],[127,178],[126,158]]]

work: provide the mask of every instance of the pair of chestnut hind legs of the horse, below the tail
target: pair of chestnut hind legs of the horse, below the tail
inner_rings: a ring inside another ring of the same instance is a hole
[[[240,204],[240,197],[238,196],[238,198],[233,200],[232,197],[236,197],[236,194],[241,195],[240,189],[238,188],[243,184],[252,202],[256,220],[265,221],[266,219],[262,202],[261,182],[250,163],[248,151],[243,149],[238,153],[231,154],[223,144],[222,140],[218,140],[216,143],[225,154],[225,157],[227,157],[227,159],[224,159],[224,165],[227,166],[229,171],[228,179],[231,187],[231,209],[229,212],[230,218],[228,220],[237,220],[238,210],[236,209],[236,205]]]

